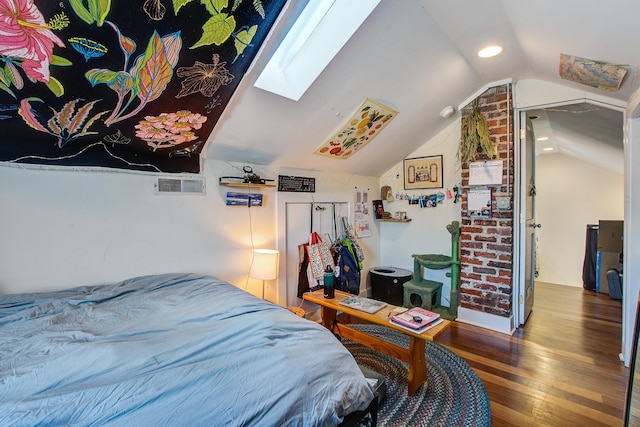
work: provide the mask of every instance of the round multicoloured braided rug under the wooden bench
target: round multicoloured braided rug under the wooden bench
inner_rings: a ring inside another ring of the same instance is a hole
[[[352,324],[386,341],[409,347],[409,337],[377,325]],[[359,343],[343,340],[358,364],[381,374],[387,397],[378,410],[378,426],[490,426],[489,398],[469,364],[452,351],[427,341],[427,385],[407,395],[409,365]]]

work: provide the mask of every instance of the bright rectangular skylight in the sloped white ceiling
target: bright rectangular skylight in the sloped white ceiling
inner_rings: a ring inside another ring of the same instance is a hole
[[[254,86],[297,101],[380,0],[310,0]]]

